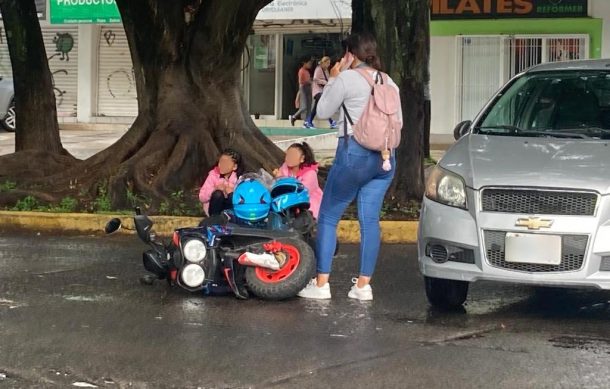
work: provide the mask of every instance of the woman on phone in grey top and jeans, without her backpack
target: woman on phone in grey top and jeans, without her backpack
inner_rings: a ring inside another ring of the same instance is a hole
[[[391,153],[391,168],[383,169],[379,151],[362,147],[354,140],[344,109],[357,122],[371,96],[368,81],[355,68],[363,68],[375,78],[379,71],[377,44],[370,34],[353,34],[345,41],[346,53],[330,72],[330,80],[318,108],[320,118],[329,118],[339,111],[339,144],[335,162],[330,170],[318,219],[316,255],[318,276],[305,287],[300,297],[331,298],[329,276],[336,246],[337,225],[347,206],[354,200],[358,204],[360,222],[360,276],[348,293],[349,298],[360,301],[373,299],[370,286],[380,247],[379,214],[386,191],[394,178],[395,159]],[[388,78],[390,85],[398,87]],[[402,113],[399,115],[402,121]],[[347,133],[347,135],[346,135]]]

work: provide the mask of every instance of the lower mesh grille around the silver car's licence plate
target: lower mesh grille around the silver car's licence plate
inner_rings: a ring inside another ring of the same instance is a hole
[[[531,273],[549,273],[579,270],[585,260],[587,235],[561,236],[561,263],[559,265],[540,265],[531,263],[512,263],[504,260],[506,232],[485,231],[485,255],[487,262],[501,269]]]

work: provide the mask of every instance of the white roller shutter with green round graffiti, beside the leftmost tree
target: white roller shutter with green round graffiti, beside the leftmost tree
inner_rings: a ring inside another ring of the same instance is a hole
[[[53,76],[57,116],[76,117],[78,102],[78,27],[42,27],[49,69]]]

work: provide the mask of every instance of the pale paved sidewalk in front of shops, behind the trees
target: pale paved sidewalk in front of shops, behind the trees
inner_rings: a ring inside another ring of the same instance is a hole
[[[288,120],[256,121],[261,131],[278,147],[286,149],[294,142],[308,142],[316,152],[318,159],[334,156],[337,146],[335,130],[322,127],[309,130],[292,127]],[[60,136],[64,147],[76,158],[86,159],[116,142],[127,130],[129,124],[60,124]],[[431,136],[431,154],[438,160],[445,150],[453,143],[450,135]],[[15,151],[15,134],[0,131],[0,155]]]

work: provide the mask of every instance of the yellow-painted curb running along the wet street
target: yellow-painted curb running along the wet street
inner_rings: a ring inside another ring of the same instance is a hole
[[[0,211],[0,230],[27,230],[49,232],[71,232],[83,234],[103,234],[104,226],[113,217],[120,218],[125,227],[133,228],[130,215],[89,214],[89,213],[47,213]],[[151,216],[155,231],[159,235],[171,235],[176,228],[194,226],[201,218],[179,216]],[[381,241],[384,243],[417,242],[417,221],[382,221]],[[120,233],[131,234],[126,229]],[[360,228],[355,220],[342,220],[337,230],[339,241],[359,243]]]

